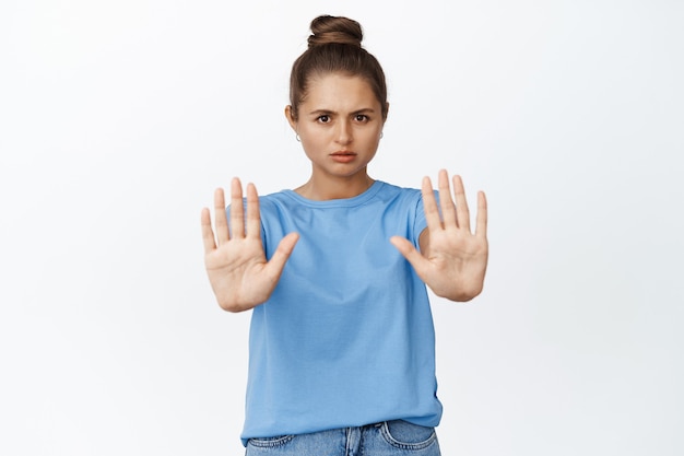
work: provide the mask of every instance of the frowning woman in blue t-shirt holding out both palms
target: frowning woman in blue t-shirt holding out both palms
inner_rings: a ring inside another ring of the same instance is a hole
[[[474,233],[463,185],[422,190],[366,171],[389,104],[378,61],[346,17],[311,23],[285,116],[311,162],[294,190],[253,185],[202,211],[210,283],[226,311],[252,309],[241,434],[248,455],[438,455],[435,335],[426,287],[482,291],[486,201]],[[229,220],[229,223],[228,223]]]

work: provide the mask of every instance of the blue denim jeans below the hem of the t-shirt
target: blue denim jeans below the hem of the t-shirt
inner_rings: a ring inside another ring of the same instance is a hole
[[[247,456],[439,456],[434,428],[386,421],[312,434],[250,439]]]

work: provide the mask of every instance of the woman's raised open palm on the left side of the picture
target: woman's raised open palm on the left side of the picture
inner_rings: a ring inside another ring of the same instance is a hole
[[[208,208],[202,209],[204,266],[219,305],[229,312],[248,311],[266,302],[280,279],[285,262],[299,235],[282,238],[270,260],[261,243],[259,196],[247,185],[247,214],[243,207],[243,185],[231,183],[231,225],[225,210],[223,189],[214,192],[215,233]]]

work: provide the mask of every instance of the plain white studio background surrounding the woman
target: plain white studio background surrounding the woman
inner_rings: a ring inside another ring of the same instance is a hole
[[[199,213],[293,188],[283,107],[320,13],[390,117],[372,176],[490,200],[491,266],[434,300],[445,455],[684,454],[684,3],[0,5],[0,454],[238,455],[249,315]]]

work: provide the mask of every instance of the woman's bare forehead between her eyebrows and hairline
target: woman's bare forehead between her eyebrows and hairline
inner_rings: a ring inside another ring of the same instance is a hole
[[[306,97],[302,105],[305,110],[357,110],[377,108],[370,84],[364,78],[343,73],[325,73],[308,81]]]

